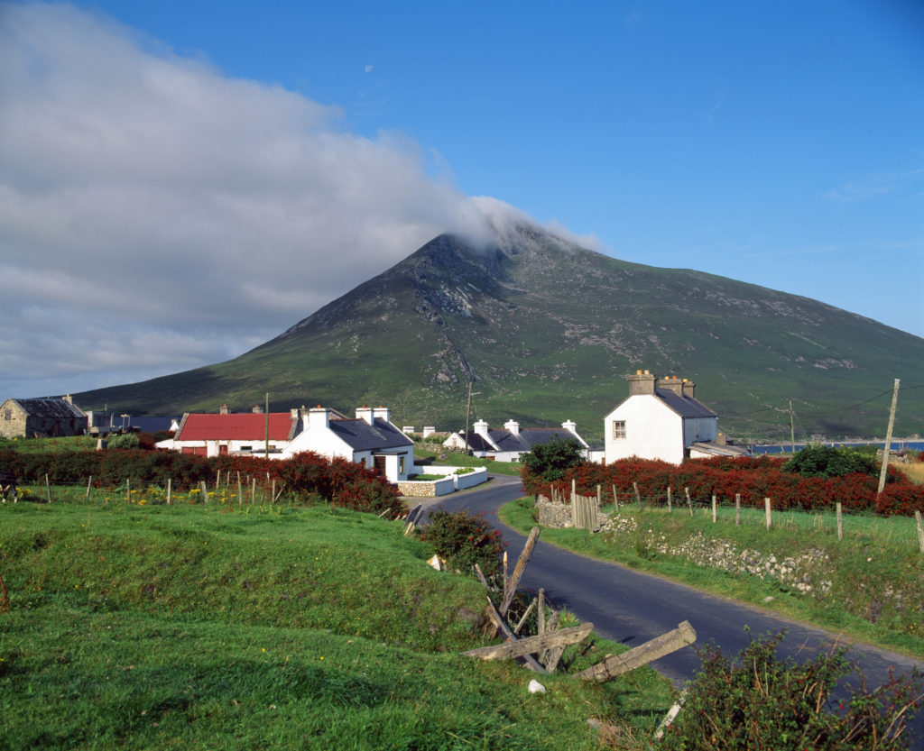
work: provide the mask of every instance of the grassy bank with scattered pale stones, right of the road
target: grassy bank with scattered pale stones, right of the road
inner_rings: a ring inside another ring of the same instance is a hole
[[[605,510],[605,509],[604,509]],[[612,511],[612,509],[611,509]],[[621,506],[602,532],[543,528],[542,539],[593,558],[668,576],[704,591],[770,608],[881,647],[924,658],[924,554],[914,519],[734,509],[694,516],[686,507]],[[526,532],[535,524],[524,498],[500,512]]]

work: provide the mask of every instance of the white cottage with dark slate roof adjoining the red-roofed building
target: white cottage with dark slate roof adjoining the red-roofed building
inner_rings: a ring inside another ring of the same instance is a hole
[[[316,406],[303,414],[303,430],[283,449],[281,458],[304,451],[379,470],[392,482],[414,471],[414,442],[391,421],[384,406],[363,406],[350,419],[334,409]]]

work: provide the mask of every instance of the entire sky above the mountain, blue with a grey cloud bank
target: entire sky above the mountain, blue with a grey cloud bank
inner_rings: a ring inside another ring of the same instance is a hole
[[[14,3],[0,34],[0,394],[234,357],[486,205],[924,335],[919,3]]]

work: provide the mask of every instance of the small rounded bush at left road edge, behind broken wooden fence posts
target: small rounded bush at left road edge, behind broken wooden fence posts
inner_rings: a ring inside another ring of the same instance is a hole
[[[430,523],[423,527],[420,539],[429,543],[450,568],[468,573],[478,563],[485,576],[501,573],[505,542],[501,533],[480,514],[438,509],[430,515]]]

